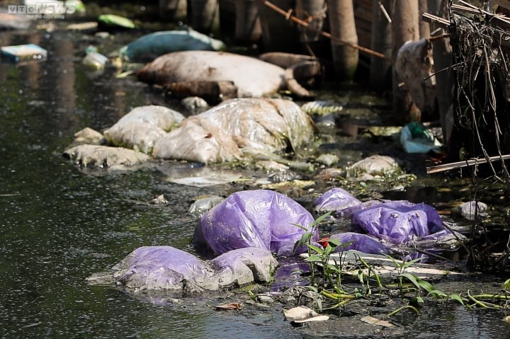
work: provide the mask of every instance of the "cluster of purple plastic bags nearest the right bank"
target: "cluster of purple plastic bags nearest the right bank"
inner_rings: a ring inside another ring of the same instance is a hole
[[[351,231],[331,237],[349,243],[344,249],[392,253],[399,247],[420,247],[453,239],[436,209],[407,200],[360,202],[342,188],[332,188],[314,202],[317,212],[334,211],[351,218]],[[459,239],[460,234],[455,234]]]

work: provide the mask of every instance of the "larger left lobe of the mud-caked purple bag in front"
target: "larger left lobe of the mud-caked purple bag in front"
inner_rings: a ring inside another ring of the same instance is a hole
[[[183,279],[200,282],[214,275],[203,260],[171,246],[137,248],[112,269],[115,280],[135,290],[181,289]]]

